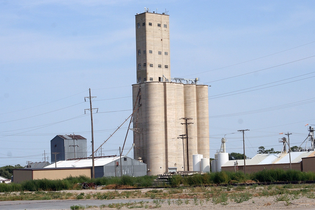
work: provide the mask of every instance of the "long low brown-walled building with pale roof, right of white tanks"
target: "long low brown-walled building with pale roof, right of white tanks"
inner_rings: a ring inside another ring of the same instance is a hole
[[[314,157],[315,151],[305,152],[291,152],[291,168],[294,170],[303,171],[302,158]],[[311,159],[310,162],[315,164],[315,159]],[[221,166],[222,171],[234,172],[235,160],[230,160]],[[238,171],[244,170],[244,160],[237,160]],[[246,173],[258,172],[263,169],[276,169],[281,168],[284,170],[290,169],[289,153],[281,154],[257,154],[252,159],[246,160]]]

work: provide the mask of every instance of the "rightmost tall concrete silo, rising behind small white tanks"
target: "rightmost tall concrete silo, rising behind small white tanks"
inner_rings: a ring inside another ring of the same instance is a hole
[[[197,125],[198,125],[198,154],[210,157],[209,151],[209,106],[208,85],[196,86]]]

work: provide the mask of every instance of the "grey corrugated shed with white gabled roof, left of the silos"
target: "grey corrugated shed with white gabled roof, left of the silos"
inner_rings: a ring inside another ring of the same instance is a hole
[[[56,163],[57,168],[62,167],[92,167],[92,159],[82,159],[82,160],[68,160],[59,161]],[[145,176],[146,175],[146,164],[137,160],[134,160],[127,156],[121,157],[106,157],[106,158],[95,158],[94,159],[94,170],[95,178],[97,177],[111,177],[111,176],[121,176],[120,166],[122,166],[123,175],[129,176]],[[45,167],[54,168],[55,163]]]

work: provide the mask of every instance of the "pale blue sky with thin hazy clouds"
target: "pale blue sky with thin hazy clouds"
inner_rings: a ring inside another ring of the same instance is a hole
[[[226,152],[243,153],[238,130],[248,129],[248,157],[260,146],[280,151],[288,132],[290,146],[303,143],[315,124],[313,0],[0,0],[0,167],[51,162],[58,134],[82,135],[90,155],[89,88],[95,149],[127,119],[102,146],[119,154],[137,82],[135,15],[145,7],[169,15],[171,77],[210,86],[210,158],[223,137]]]

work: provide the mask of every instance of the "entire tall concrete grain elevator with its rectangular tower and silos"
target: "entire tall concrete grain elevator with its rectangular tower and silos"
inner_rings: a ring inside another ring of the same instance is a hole
[[[192,155],[209,158],[208,86],[170,77],[169,15],[145,9],[135,19],[134,158],[148,175],[192,171]]]

